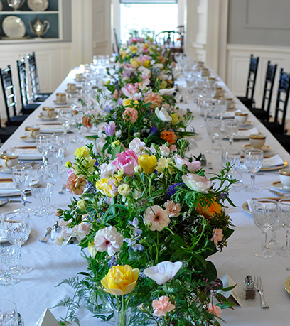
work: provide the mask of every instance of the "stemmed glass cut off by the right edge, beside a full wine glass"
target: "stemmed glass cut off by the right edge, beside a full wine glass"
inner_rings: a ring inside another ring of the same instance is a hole
[[[281,225],[286,229],[285,250],[278,251],[278,254],[279,256],[290,257],[290,199],[279,200],[277,210]]]

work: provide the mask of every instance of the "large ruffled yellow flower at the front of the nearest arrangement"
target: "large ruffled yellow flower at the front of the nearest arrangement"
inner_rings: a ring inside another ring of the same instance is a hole
[[[138,268],[131,268],[129,265],[113,266],[104,278],[101,284],[104,291],[112,295],[125,295],[134,291],[139,276]]]

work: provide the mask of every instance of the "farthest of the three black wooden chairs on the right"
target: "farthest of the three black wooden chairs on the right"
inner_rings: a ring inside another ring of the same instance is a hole
[[[259,66],[259,57],[254,58],[254,55],[251,55],[249,60],[249,74],[247,77],[247,88],[245,97],[237,97],[240,99],[242,104],[246,107],[254,107],[254,89],[256,87],[257,72]]]

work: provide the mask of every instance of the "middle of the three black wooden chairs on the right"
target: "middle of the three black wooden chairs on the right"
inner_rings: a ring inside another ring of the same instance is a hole
[[[277,65],[271,65],[271,61],[268,61],[262,107],[259,109],[256,107],[249,108],[252,114],[254,114],[254,116],[256,116],[256,118],[261,121],[269,121],[276,70],[277,70]]]

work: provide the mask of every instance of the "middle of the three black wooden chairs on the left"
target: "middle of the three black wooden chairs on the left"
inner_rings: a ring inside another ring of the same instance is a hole
[[[29,94],[25,58],[21,58],[21,60],[17,60],[16,65],[18,70],[18,81],[19,81],[20,94],[21,94],[21,104],[22,104],[21,112],[23,114],[31,114],[37,107],[39,107],[40,103],[38,104],[29,103],[31,101],[31,97]]]

